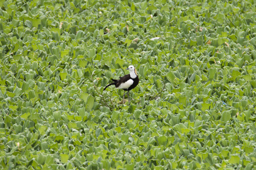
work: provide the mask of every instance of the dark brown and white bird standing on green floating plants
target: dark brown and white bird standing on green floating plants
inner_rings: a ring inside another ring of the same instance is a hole
[[[123,77],[119,77],[120,78],[119,80],[115,80],[115,79],[111,78],[111,80],[113,82],[110,83],[109,85],[107,85],[104,88],[104,90],[106,90],[106,88],[110,85],[115,85],[116,88],[123,89],[123,90],[127,91],[128,101],[130,102],[129,91],[138,85],[139,78],[138,78],[136,68],[133,65],[130,65],[125,70],[129,70],[130,74],[125,75]],[[124,101],[124,97],[125,97],[125,92],[123,93],[123,101]]]

